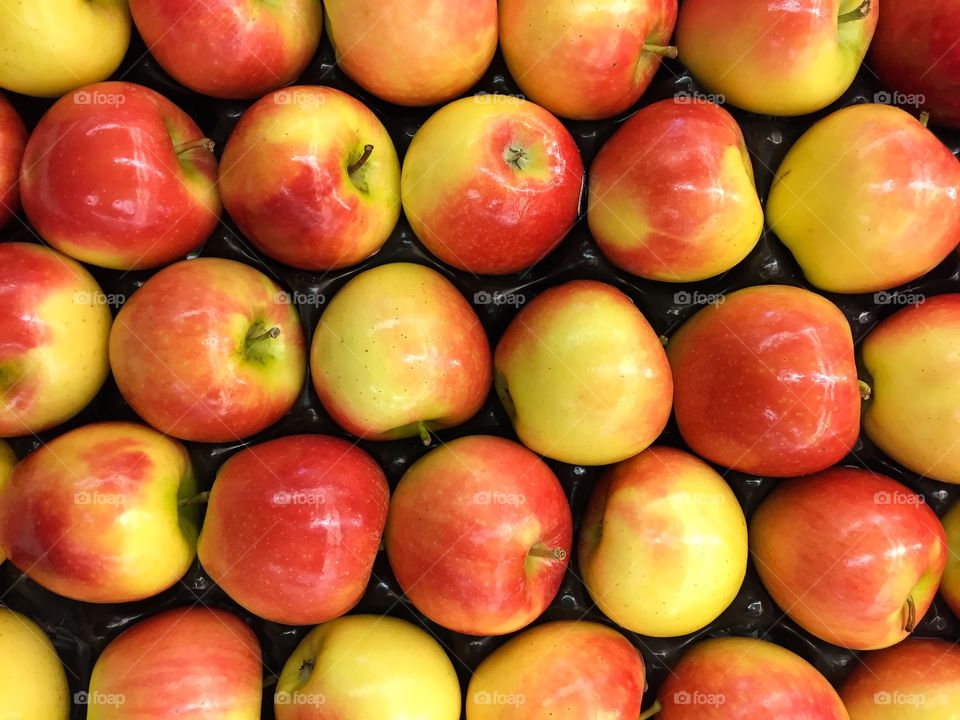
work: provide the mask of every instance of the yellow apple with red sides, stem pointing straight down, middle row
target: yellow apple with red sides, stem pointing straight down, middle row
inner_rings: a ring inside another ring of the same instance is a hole
[[[320,401],[347,432],[392,440],[453,427],[483,405],[490,344],[442,275],[413,263],[352,278],[327,305],[310,367]]]

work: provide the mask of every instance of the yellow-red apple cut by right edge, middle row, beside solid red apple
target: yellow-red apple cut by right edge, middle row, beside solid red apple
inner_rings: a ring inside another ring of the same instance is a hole
[[[960,483],[960,294],[925,298],[877,325],[863,343],[872,399],[867,436],[887,455]]]

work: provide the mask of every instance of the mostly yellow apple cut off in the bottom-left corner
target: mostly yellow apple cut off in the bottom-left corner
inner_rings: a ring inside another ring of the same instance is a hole
[[[0,608],[0,707],[10,720],[67,720],[70,687],[50,638],[28,617]]]

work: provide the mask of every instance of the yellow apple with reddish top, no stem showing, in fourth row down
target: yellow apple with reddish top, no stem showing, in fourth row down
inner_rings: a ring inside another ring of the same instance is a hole
[[[747,523],[736,495],[709,465],[668,447],[604,473],[578,547],[597,607],[651,637],[687,635],[716,620],[747,571]]]

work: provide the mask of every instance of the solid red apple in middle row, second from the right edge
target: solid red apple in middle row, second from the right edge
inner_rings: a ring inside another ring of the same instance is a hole
[[[826,298],[786,285],[721,297],[667,345],[680,433],[701,457],[789,477],[847,455],[860,430],[853,337]]]

